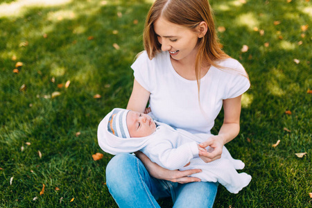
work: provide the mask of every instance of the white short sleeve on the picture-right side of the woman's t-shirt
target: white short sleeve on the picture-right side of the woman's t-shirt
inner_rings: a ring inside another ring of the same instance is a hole
[[[239,62],[237,62],[234,71],[229,73],[229,75],[225,99],[236,98],[249,89],[250,81],[248,75]]]

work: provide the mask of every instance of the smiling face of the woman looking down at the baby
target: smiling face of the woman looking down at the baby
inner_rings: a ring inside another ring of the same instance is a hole
[[[196,57],[198,33],[162,17],[155,21],[154,31],[162,44],[162,51],[168,51],[174,60]]]

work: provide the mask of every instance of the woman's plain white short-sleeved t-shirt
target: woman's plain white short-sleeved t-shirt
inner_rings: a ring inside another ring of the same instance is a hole
[[[243,66],[232,58],[211,66],[200,79],[200,105],[196,80],[182,78],[171,64],[168,51],[150,60],[146,51],[132,64],[137,82],[150,92],[150,108],[157,121],[191,133],[210,133],[223,100],[240,96],[250,87]]]

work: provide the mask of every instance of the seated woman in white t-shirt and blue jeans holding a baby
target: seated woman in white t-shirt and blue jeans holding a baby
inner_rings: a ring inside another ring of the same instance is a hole
[[[220,158],[239,134],[241,94],[250,83],[241,64],[220,49],[208,1],[156,0],[143,38],[127,108],[144,112],[149,101],[158,121],[209,135],[223,105],[218,135],[200,144],[214,148],[200,153],[205,162]],[[159,207],[156,200],[163,197],[171,197],[174,207],[213,206],[218,184],[188,177],[201,170],[169,171],[135,155],[116,155],[107,165],[107,187],[119,207]]]

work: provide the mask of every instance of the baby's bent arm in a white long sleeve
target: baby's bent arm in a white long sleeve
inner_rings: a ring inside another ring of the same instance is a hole
[[[193,157],[198,157],[198,151],[196,141],[187,142],[174,148],[170,141],[163,140],[155,146],[146,146],[143,153],[159,166],[177,170],[188,164]]]

